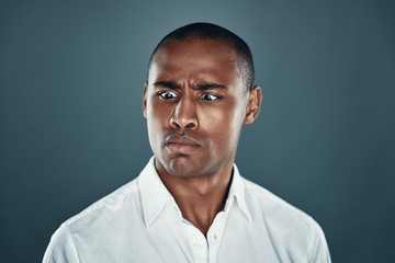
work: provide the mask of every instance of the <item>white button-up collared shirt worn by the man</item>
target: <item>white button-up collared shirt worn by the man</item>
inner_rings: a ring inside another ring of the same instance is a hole
[[[183,219],[154,157],[138,178],[64,222],[43,262],[330,262],[309,216],[240,176],[205,238]]]

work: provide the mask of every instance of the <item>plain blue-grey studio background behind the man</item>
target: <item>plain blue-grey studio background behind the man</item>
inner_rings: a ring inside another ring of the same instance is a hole
[[[138,175],[149,55],[185,23],[249,43],[241,174],[313,216],[334,262],[394,262],[394,1],[1,1],[0,255],[40,262],[67,218]]]

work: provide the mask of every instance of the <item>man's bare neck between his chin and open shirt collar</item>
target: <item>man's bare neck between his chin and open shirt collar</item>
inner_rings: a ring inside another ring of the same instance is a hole
[[[161,181],[174,197],[183,218],[206,236],[215,216],[224,209],[232,181],[233,165],[218,173],[181,178],[167,172],[159,173]]]

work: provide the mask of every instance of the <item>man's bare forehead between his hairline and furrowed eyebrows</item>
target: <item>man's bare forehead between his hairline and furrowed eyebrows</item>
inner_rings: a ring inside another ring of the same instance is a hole
[[[223,41],[166,41],[153,57],[149,78],[213,78],[236,81],[237,53]]]

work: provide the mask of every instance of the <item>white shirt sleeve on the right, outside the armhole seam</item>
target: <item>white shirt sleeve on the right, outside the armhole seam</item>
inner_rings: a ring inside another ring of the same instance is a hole
[[[314,221],[315,222],[315,221]],[[331,263],[329,249],[323,229],[315,222],[316,231],[308,253],[309,263]]]

